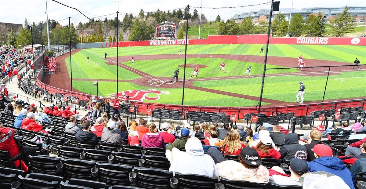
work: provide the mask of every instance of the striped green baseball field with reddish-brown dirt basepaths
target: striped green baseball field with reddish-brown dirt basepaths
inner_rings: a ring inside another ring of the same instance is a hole
[[[259,102],[264,53],[261,44],[188,45],[184,105],[256,106]],[[119,47],[118,77],[116,48],[72,51],[74,91],[113,97],[127,94],[130,100],[147,103],[182,104],[184,45]],[[179,55],[179,49],[183,55]],[[352,69],[355,58],[364,64],[366,46],[269,45],[262,105],[290,105],[296,100],[299,81],[305,85],[305,103],[366,97],[366,66]],[[107,58],[104,58],[107,53]],[[299,72],[298,56],[305,67]],[[134,64],[131,57],[134,56]],[[87,62],[89,57],[89,63]],[[46,77],[49,85],[70,90],[70,55],[57,57],[58,71]],[[224,62],[225,73],[219,70]],[[251,67],[251,77],[246,72]],[[197,77],[193,68],[198,66]],[[315,67],[313,66],[339,66]],[[176,69],[179,81],[170,82]],[[329,71],[329,76],[328,76]],[[118,89],[116,89],[118,79]]]

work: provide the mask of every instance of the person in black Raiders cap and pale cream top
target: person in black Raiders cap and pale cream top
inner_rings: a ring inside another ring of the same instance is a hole
[[[217,163],[216,167],[220,177],[234,181],[268,183],[269,171],[262,166],[258,152],[255,149],[243,148],[238,159],[239,162],[227,160]]]

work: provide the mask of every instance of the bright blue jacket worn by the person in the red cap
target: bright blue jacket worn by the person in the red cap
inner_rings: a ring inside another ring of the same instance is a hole
[[[342,178],[351,189],[355,188],[353,175],[338,157],[319,157],[312,162],[307,162],[307,165],[310,172],[325,171],[332,173]]]

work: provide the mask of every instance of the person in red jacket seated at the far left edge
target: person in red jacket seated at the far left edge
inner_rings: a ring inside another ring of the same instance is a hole
[[[20,153],[20,149],[14,140],[14,130],[9,127],[3,127],[0,124],[0,149],[9,151],[11,157]],[[21,167],[23,171],[28,172],[28,166],[19,158],[14,159],[15,167]]]

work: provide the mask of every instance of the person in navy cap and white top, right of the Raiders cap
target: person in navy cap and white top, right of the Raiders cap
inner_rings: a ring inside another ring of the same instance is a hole
[[[277,185],[295,185],[301,186],[300,177],[309,172],[309,166],[307,166],[306,161],[298,158],[293,158],[290,161],[290,166],[288,167],[291,172],[290,177],[283,175],[272,175],[269,177],[269,182],[273,182]]]

